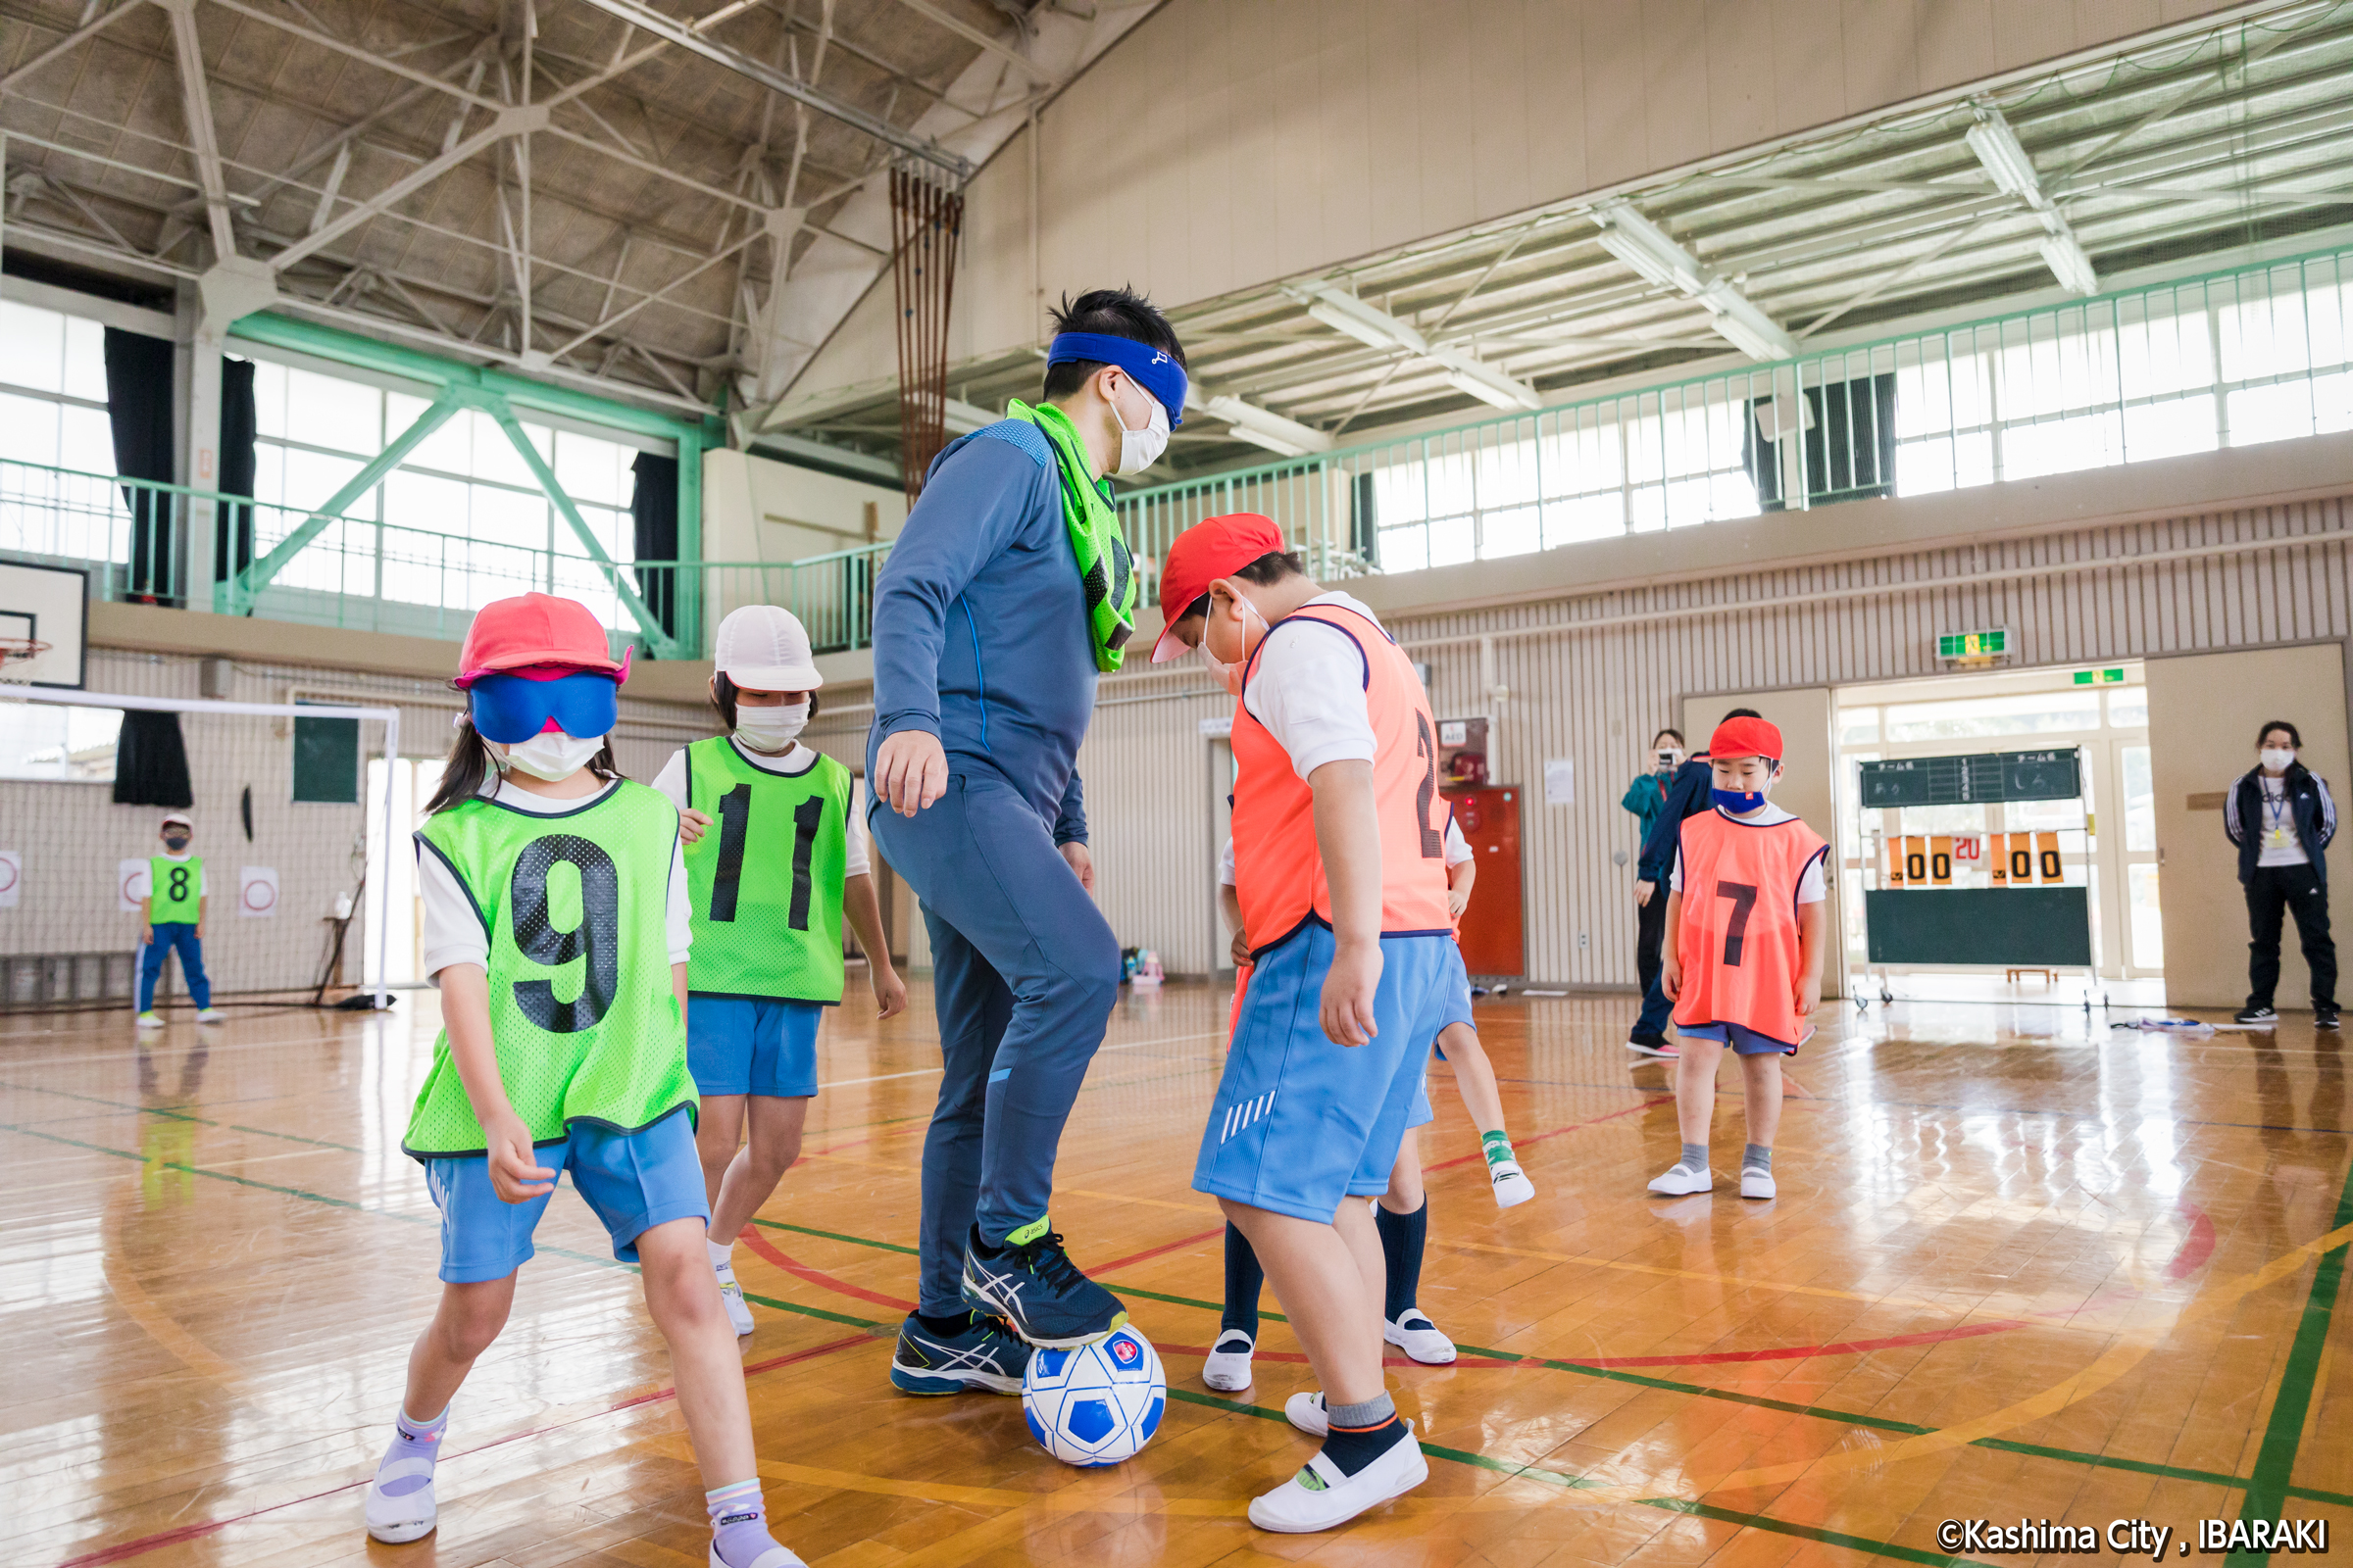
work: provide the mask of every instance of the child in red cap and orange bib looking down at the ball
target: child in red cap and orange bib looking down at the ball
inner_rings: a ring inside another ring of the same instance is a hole
[[[1388,1190],[1428,1041],[1457,1016],[1438,726],[1374,614],[1306,576],[1259,515],[1186,529],[1160,574],[1153,663],[1240,665],[1235,896],[1249,992],[1193,1187],[1249,1237],[1322,1380],[1285,1415],[1322,1436],[1254,1497],[1261,1530],[1327,1530],[1428,1479],[1381,1373]]]

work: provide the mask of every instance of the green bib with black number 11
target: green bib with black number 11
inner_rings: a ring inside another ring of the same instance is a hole
[[[687,748],[687,804],[711,818],[687,844],[687,987],[840,1001],[849,769],[819,752],[807,773],[769,773],[715,736]]]

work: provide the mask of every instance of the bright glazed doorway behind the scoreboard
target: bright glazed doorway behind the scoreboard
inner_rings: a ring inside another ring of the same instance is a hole
[[[2155,795],[2148,750],[2148,682],[2139,661],[2057,670],[1988,670],[1911,682],[1840,686],[1838,832],[1847,971],[1871,971],[1899,997],[2064,1001],[2078,1006],[2085,976],[1882,964],[1868,957],[1864,893],[1889,886],[1889,839],[1953,839],[1948,886],[1993,886],[1986,846],[1995,835],[2057,835],[2057,884],[2089,905],[2092,971],[2111,1001],[2165,1004]],[[2078,750],[2080,799],[1979,802],[1866,809],[1861,764],[2021,750]],[[2040,842],[2040,839],[2038,839]],[[1977,853],[1965,853],[1974,849]],[[1901,853],[1901,851],[1899,851]],[[1866,992],[1868,994],[1868,992]]]

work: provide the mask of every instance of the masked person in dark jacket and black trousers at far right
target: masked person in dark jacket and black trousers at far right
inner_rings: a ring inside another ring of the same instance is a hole
[[[2280,926],[2297,917],[2297,940],[2313,971],[2313,1025],[2337,1027],[2337,943],[2329,938],[2329,863],[2322,851],[2337,837],[2337,802],[2320,773],[2297,752],[2304,736],[2287,719],[2271,719],[2257,733],[2257,766],[2224,797],[2224,832],[2238,844],[2238,879],[2247,889],[2247,1006],[2238,1023],[2278,1020],[2273,990],[2280,985]]]

